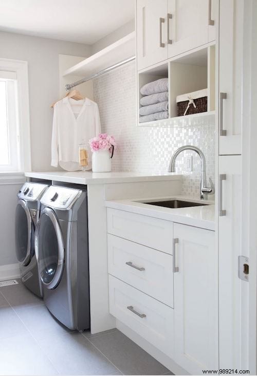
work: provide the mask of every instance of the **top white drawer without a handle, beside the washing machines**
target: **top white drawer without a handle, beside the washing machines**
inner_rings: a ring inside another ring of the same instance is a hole
[[[107,232],[172,254],[173,222],[107,208]]]

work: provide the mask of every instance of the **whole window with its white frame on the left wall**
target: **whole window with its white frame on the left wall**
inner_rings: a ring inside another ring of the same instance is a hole
[[[30,170],[27,62],[0,59],[0,173]]]

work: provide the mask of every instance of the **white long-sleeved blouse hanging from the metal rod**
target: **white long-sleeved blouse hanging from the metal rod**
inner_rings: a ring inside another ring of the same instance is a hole
[[[76,110],[78,108],[78,110]],[[80,109],[80,110],[79,110]],[[64,170],[81,170],[79,166],[79,144],[88,143],[90,138],[101,133],[98,105],[90,99],[76,101],[64,98],[54,105],[52,125],[51,165]],[[91,151],[88,145],[89,165]]]

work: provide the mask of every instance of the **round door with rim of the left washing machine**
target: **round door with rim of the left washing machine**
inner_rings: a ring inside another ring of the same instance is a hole
[[[18,261],[27,266],[34,254],[34,223],[24,200],[19,200],[16,206],[15,246]]]

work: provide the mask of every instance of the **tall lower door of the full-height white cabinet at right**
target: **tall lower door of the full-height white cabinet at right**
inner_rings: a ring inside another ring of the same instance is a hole
[[[244,299],[248,282],[238,278],[238,256],[242,254],[242,166],[241,156],[219,157],[219,368],[248,369],[245,351]],[[223,180],[221,179],[223,178]],[[244,250],[247,256],[247,250]]]

